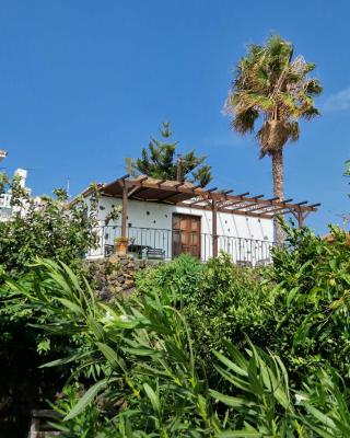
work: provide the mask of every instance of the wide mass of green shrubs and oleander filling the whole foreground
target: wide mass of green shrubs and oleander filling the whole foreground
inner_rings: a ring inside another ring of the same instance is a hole
[[[108,304],[78,253],[3,264],[2,388],[30,359],[62,438],[350,436],[349,240],[285,232],[271,266],[184,255]]]

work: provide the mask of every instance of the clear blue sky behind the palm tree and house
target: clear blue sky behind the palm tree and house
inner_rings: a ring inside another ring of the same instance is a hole
[[[341,0],[1,0],[1,165],[27,168],[35,194],[68,178],[77,194],[124,174],[166,119],[182,151],[208,154],[214,185],[270,196],[270,160],[221,110],[247,44],[277,32],[325,89],[322,117],[285,148],[285,195],[323,204],[307,220],[323,233],[350,205],[349,14]]]

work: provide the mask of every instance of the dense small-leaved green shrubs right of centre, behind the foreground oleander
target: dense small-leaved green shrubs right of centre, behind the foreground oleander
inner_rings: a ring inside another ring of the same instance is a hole
[[[218,380],[212,350],[224,348],[226,341],[243,348],[245,335],[283,357],[293,387],[326,364],[350,377],[349,241],[338,229],[332,229],[331,244],[305,228],[285,231],[288,245],[275,250],[270,268],[233,266],[222,254],[197,277],[191,277],[195,262],[183,264],[179,275],[176,262],[142,275],[141,293],[175,289],[176,297],[187,297],[183,313],[194,348],[208,364],[210,383]],[[196,280],[188,285],[188,278]]]

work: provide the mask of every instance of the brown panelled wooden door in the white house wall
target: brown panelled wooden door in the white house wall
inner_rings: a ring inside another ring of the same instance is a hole
[[[179,254],[200,258],[200,216],[173,215],[173,257]]]

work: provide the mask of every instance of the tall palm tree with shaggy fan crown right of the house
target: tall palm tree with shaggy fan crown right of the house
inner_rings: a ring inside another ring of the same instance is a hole
[[[317,116],[313,97],[322,92],[308,73],[315,65],[302,56],[293,59],[293,45],[278,35],[266,45],[250,45],[241,59],[224,112],[232,117],[232,128],[245,135],[256,131],[260,158],[271,157],[275,196],[284,198],[283,148],[300,136],[299,120]],[[282,243],[283,230],[275,224],[276,241]]]

